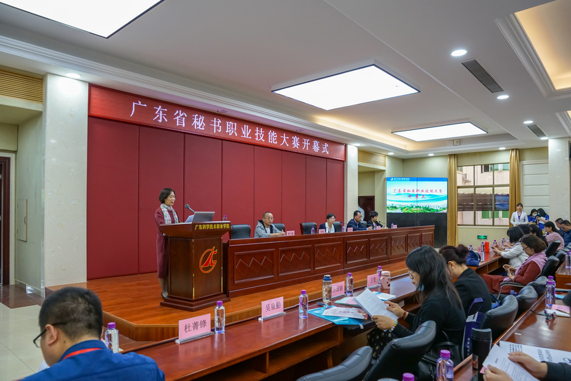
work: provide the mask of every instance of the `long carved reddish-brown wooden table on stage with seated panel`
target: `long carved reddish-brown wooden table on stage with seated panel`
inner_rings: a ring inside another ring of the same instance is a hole
[[[230,239],[224,244],[228,295],[241,296],[365,270],[433,246],[434,226]]]

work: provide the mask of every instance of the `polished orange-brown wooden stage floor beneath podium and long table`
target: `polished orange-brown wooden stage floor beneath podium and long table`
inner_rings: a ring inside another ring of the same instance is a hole
[[[391,277],[407,271],[405,261],[383,265],[384,271],[390,271]],[[374,274],[375,268],[354,272],[354,287],[363,287],[367,275]],[[345,275],[333,277],[333,283],[345,280]],[[162,307],[160,286],[156,273],[116,278],[95,279],[85,283],[72,284],[85,287],[98,294],[103,304],[103,322],[115,322],[120,334],[136,342],[154,342],[178,336],[178,320],[210,313],[214,316],[214,307],[197,312]],[[49,287],[58,290],[67,285]],[[261,302],[283,296],[284,307],[299,303],[300,290],[307,290],[310,301],[321,298],[321,280],[299,283],[289,287],[258,292],[257,294],[237,296],[227,303],[226,325],[246,320],[261,314]],[[130,347],[133,347],[131,345]]]

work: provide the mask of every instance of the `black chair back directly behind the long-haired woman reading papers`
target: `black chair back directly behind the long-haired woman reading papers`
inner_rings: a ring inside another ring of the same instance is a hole
[[[402,373],[416,374],[418,362],[431,347],[436,334],[436,323],[429,320],[422,323],[411,336],[392,340],[380,353],[364,381],[379,378],[402,380]]]

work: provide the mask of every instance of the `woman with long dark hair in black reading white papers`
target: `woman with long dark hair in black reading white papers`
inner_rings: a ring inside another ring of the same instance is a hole
[[[418,291],[420,310],[418,314],[411,314],[396,303],[385,302],[390,312],[409,323],[410,330],[387,316],[372,316],[377,326],[369,332],[367,340],[373,348],[373,357],[378,358],[393,338],[410,336],[419,325],[429,320],[436,323],[438,336],[435,342],[442,342],[444,335],[441,332],[445,332],[451,342],[461,346],[466,316],[460,296],[446,271],[444,258],[434,248],[421,246],[409,253],[405,263]]]

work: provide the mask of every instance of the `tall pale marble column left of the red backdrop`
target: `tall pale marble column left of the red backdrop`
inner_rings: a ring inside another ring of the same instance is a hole
[[[85,82],[45,77],[47,287],[87,280],[87,92]]]

